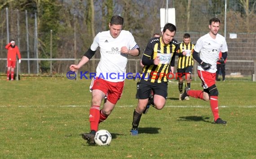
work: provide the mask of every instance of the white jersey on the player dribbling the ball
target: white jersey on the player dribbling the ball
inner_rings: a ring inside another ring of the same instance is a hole
[[[91,45],[91,50],[96,51],[100,47],[101,59],[96,69],[96,76],[110,82],[122,82],[126,78],[127,54],[120,52],[121,47],[129,50],[139,46],[132,33],[121,30],[117,38],[110,35],[110,31],[98,33]]]

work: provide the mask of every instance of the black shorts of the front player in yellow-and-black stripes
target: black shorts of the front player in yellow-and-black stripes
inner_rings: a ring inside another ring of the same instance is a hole
[[[154,95],[161,95],[164,99],[167,99],[168,82],[152,83],[141,79],[137,82],[137,99],[148,99],[151,95],[151,90]]]

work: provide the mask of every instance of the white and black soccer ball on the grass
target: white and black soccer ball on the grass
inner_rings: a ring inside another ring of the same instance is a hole
[[[99,130],[95,134],[94,142],[99,146],[106,146],[110,144],[111,139],[111,134],[107,130]]]

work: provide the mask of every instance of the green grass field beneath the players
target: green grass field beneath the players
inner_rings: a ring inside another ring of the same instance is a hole
[[[136,81],[126,80],[122,99],[99,129],[112,134],[110,146],[88,146],[90,80],[64,77],[0,77],[0,159],[191,159],[256,158],[256,82],[217,82],[221,118],[213,124],[209,102],[178,100],[169,82],[162,110],[142,115],[132,137]],[[201,89],[192,81],[192,89]]]

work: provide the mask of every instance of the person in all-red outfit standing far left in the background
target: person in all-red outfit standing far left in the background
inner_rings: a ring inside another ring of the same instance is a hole
[[[7,81],[9,81],[10,71],[11,71],[11,80],[14,76],[14,68],[16,67],[16,56],[18,55],[19,64],[21,63],[21,54],[18,46],[15,45],[15,41],[11,40],[5,48],[8,50],[7,53]]]

